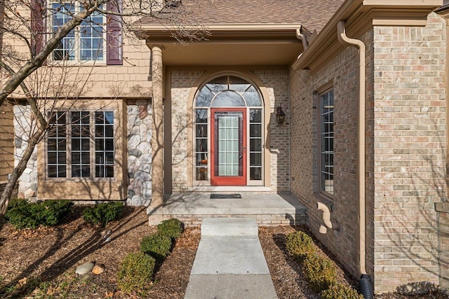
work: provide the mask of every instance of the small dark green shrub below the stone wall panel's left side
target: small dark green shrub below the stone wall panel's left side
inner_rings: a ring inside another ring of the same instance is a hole
[[[83,211],[84,221],[97,225],[100,223],[106,226],[107,223],[114,221],[121,216],[123,210],[123,202],[105,202],[95,204],[93,207],[87,207]]]

